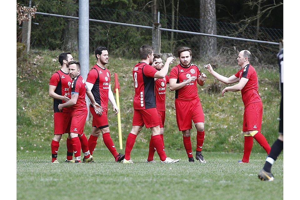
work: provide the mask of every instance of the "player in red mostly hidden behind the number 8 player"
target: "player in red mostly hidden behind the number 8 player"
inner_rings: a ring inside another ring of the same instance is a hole
[[[158,53],[153,54],[153,65],[154,63],[158,62],[158,65],[156,65],[155,69],[158,71],[163,68],[163,60],[160,57]],[[167,63],[172,64],[173,57],[167,58]],[[156,61],[156,62],[155,62]],[[165,109],[165,100],[166,100],[166,88],[167,84],[169,83],[169,76],[168,74],[164,78],[154,78],[155,81],[155,100],[156,100],[156,109],[158,113],[159,118],[159,127],[160,127],[160,137],[163,140],[163,126],[165,124],[165,117],[166,117],[166,109]],[[164,141],[163,141],[163,147],[164,147]],[[149,142],[149,154],[148,154],[148,163],[156,163],[156,161],[153,159],[155,148],[153,145],[152,136],[150,138]]]

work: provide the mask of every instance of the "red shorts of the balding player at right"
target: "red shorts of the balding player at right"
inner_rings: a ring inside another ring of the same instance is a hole
[[[243,132],[262,128],[262,102],[250,103],[245,107]]]

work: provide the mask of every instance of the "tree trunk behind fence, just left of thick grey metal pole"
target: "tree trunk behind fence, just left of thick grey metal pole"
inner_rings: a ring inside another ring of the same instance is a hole
[[[70,16],[78,16],[74,11]],[[67,26],[64,30],[63,49],[68,52],[78,51],[78,20],[67,19]]]

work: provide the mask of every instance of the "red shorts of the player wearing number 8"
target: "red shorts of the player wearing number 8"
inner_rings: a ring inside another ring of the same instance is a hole
[[[148,108],[145,110],[134,110],[133,112],[133,126],[146,126],[152,128],[159,125],[158,113],[156,108]]]

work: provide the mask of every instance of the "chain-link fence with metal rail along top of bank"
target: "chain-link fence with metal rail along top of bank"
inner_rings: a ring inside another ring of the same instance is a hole
[[[54,14],[78,16],[78,5],[73,5],[70,13],[63,10]],[[109,8],[90,7],[89,18],[128,24],[138,24],[152,27],[153,15],[146,12],[116,10]],[[47,12],[37,9],[38,12]],[[54,25],[55,24],[55,25]],[[76,36],[78,21],[61,17],[51,17],[37,14],[32,19],[31,48],[68,50],[69,43],[76,44],[76,39],[67,38],[71,33]],[[200,21],[197,18],[160,14],[162,28],[183,31],[200,32]],[[172,26],[173,24],[173,26]],[[17,25],[17,41],[21,41],[21,27]],[[254,26],[241,27],[241,24],[217,22],[217,35],[279,42],[283,38],[283,30]],[[120,26],[108,23],[89,22],[89,49],[92,53],[98,46],[106,46],[110,54],[137,58],[138,48],[143,44],[152,43],[152,30]],[[193,57],[200,59],[209,55],[199,52],[199,36],[177,32],[161,32],[161,53],[177,55],[177,49],[188,46],[193,49]],[[217,59],[229,64],[235,63],[238,51],[248,49],[252,52],[252,63],[275,65],[275,56],[279,50],[278,45],[257,42],[245,42],[233,39],[217,38]],[[75,49],[76,50],[76,49]]]

